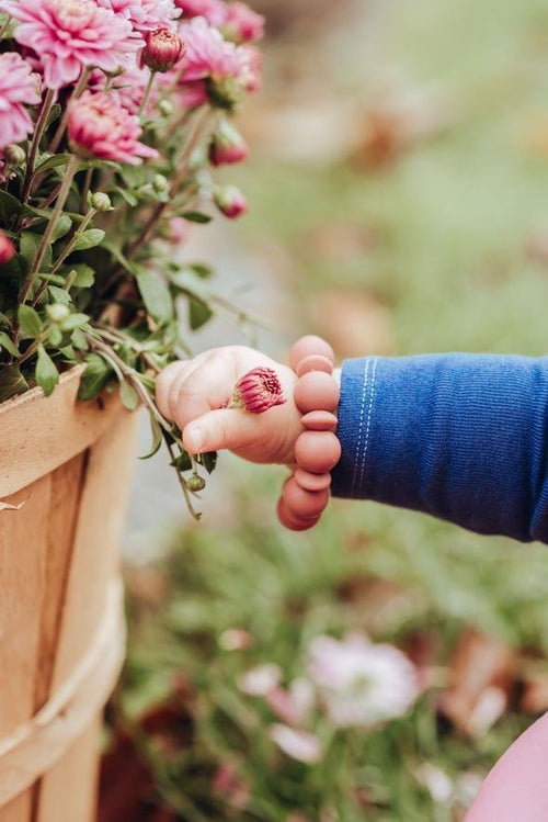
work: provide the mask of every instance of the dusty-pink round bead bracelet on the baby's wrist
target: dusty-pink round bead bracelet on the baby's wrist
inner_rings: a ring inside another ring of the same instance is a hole
[[[306,531],[320,519],[329,503],[331,470],[341,459],[333,433],[340,389],[333,378],[334,353],[321,337],[302,337],[292,348],[289,362],[298,376],[295,404],[305,430],[295,443],[297,470],[284,485],[278,518],[293,531]]]

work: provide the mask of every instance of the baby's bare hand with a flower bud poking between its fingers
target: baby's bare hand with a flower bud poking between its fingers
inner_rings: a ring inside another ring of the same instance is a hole
[[[227,408],[238,381],[260,367],[275,371],[286,402],[264,414]],[[169,365],[158,378],[156,397],[163,416],[183,432],[190,453],[229,449],[251,462],[292,464],[302,431],[293,399],[296,381],[289,368],[270,357],[227,346]]]

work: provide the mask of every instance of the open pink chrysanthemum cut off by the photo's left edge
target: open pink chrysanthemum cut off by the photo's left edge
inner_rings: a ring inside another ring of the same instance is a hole
[[[21,55],[0,55],[0,151],[10,143],[25,139],[33,122],[25,105],[41,101],[39,78]]]

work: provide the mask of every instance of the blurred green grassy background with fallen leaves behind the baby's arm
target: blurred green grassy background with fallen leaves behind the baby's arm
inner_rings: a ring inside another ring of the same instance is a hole
[[[254,5],[270,20],[266,82],[236,173],[252,209],[236,248],[221,227],[199,241],[220,272],[229,256],[244,271],[274,329],[260,342],[281,358],[311,331],[341,359],[545,353],[546,2]],[[336,500],[311,533],[286,533],[279,470],[221,462],[203,523],[128,556],[101,822],[461,820],[548,708],[546,548]],[[298,762],[239,682],[273,663],[288,685],[313,637],[347,631],[403,650],[423,692],[377,730],[316,716],[324,754]]]

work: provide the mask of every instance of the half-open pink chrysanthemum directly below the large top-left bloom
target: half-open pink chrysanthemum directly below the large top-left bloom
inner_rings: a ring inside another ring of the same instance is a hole
[[[99,157],[136,166],[158,151],[139,143],[139,119],[106,94],[84,91],[69,103],[68,135],[81,157]]]

